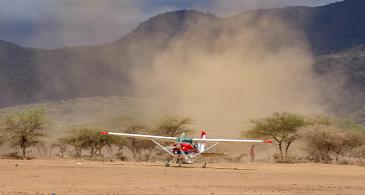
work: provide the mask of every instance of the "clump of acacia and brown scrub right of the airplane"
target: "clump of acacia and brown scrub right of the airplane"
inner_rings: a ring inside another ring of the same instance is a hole
[[[278,147],[277,162],[294,162],[289,147],[296,141],[305,144],[306,161],[350,163],[352,157],[364,158],[364,126],[349,119],[325,116],[306,118],[298,114],[274,113],[272,116],[251,120],[252,127],[244,135],[271,138]],[[355,155],[354,155],[355,153]],[[362,161],[361,161],[362,162]]]

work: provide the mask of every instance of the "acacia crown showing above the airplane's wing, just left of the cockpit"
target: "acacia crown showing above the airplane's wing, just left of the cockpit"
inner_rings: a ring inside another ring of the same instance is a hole
[[[182,133],[192,133],[193,130],[188,126],[191,125],[193,119],[190,117],[164,116],[158,123],[154,133],[164,136],[178,136]]]

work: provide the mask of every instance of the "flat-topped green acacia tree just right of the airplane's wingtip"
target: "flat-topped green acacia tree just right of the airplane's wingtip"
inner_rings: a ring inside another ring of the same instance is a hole
[[[299,137],[298,130],[309,122],[305,117],[292,113],[274,113],[270,117],[251,120],[252,128],[245,135],[253,138],[270,138],[279,148],[281,160],[286,160],[290,145]]]

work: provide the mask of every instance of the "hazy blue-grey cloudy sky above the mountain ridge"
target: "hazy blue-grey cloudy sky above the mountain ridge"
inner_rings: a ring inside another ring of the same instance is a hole
[[[0,40],[37,48],[95,44],[120,38],[159,13],[196,9],[220,16],[340,0],[0,0]]]

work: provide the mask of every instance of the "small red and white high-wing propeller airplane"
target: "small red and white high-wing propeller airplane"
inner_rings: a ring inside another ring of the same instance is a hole
[[[200,138],[190,138],[182,133],[179,137],[166,137],[166,136],[156,136],[156,135],[142,135],[142,134],[129,134],[129,133],[115,133],[115,132],[101,132],[103,135],[116,135],[124,136],[136,139],[147,139],[154,142],[163,151],[171,155],[172,158],[165,162],[165,166],[169,167],[170,162],[176,159],[176,163],[181,167],[181,164],[192,164],[194,159],[199,155],[205,154],[208,150],[214,148],[219,143],[272,143],[272,140],[253,140],[253,139],[213,139],[207,138],[206,131],[201,131]],[[168,146],[162,146],[159,141],[164,142],[174,142]],[[205,148],[206,144],[213,143],[209,147]],[[206,168],[207,163],[202,164],[202,168]]]

